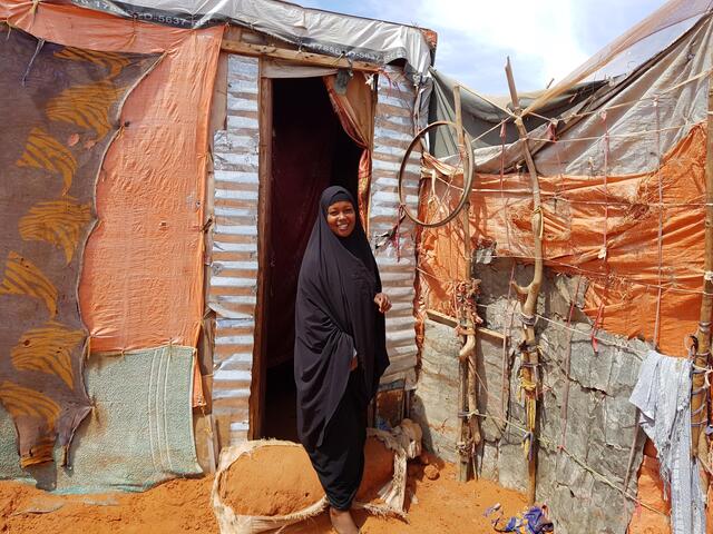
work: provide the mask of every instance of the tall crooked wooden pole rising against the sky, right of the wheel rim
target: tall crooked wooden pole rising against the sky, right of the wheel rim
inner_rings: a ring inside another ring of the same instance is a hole
[[[520,100],[517,96],[515,87],[515,78],[512,77],[512,68],[510,67],[510,58],[507,59],[505,73],[508,79],[510,89],[510,98],[515,108],[515,126],[518,136],[522,141],[522,155],[530,174],[530,182],[533,187],[533,238],[535,241],[535,275],[533,281],[527,287],[519,287],[514,284],[515,289],[520,296],[525,296],[525,303],[520,303],[520,320],[522,322],[522,342],[520,343],[520,352],[522,353],[522,370],[520,375],[520,387],[525,394],[525,413],[528,435],[525,437],[527,472],[529,484],[527,488],[527,501],[529,504],[535,503],[536,478],[537,478],[537,397],[539,395],[539,347],[535,337],[535,317],[537,312],[537,297],[539,288],[543,285],[543,212],[539,194],[539,179],[537,177],[537,168],[533,160],[533,155],[527,141],[527,130],[522,122],[522,109]]]

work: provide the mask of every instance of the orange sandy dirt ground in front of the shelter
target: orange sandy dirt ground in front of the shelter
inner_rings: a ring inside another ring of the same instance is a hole
[[[495,532],[484,517],[500,503],[506,516],[525,508],[524,495],[488,481],[456,481],[452,465],[440,464],[431,481],[419,463],[409,467],[409,523],[356,513],[364,534]],[[140,494],[55,496],[32,486],[0,482],[0,533],[109,534],[180,532],[217,533],[211,507],[213,478],[179,479]],[[332,532],[323,515],[286,531]]]

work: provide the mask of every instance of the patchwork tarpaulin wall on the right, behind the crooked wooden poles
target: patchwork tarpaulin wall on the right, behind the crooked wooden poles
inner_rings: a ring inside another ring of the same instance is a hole
[[[485,327],[477,334],[484,443],[476,463],[481,476],[525,490],[522,443],[533,454],[528,444],[538,441],[536,498],[550,506],[557,532],[668,532],[658,461],[666,464],[671,456],[648,442],[642,463],[645,439],[629,396],[652,349],[682,357],[692,369],[696,349],[687,336],[702,339],[711,320],[701,316],[710,291],[704,222],[712,157],[710,144],[706,149],[711,7],[710,1],[668,2],[563,82],[528,95],[521,101],[527,141],[518,139],[518,113],[509,98],[461,88],[462,123],[475,139],[469,220]],[[456,82],[436,71],[433,77],[430,121],[456,121]],[[451,131],[439,129],[429,139],[432,157],[422,176],[430,177],[423,189],[432,194],[421,198],[424,216],[442,209],[433,197],[441,195],[448,205],[450,195],[455,206],[461,194],[457,187],[446,194],[459,158]],[[535,169],[527,168],[525,142]],[[535,215],[544,218],[543,228],[534,227]],[[533,278],[534,235],[543,241],[546,266],[534,315],[536,385],[524,378],[529,364],[520,332],[529,317],[519,314],[511,288],[512,281],[526,287]],[[413,411],[427,428],[427,444],[451,461],[462,446],[459,344],[448,339],[458,315],[455,284],[470,276],[462,250],[458,224],[420,235],[423,350]],[[676,402],[676,393],[691,398],[691,389],[707,396],[691,377],[678,389],[675,375],[668,378],[668,403]],[[535,436],[521,402],[530,390],[538,397]],[[688,400],[680,405],[683,418],[687,406]],[[703,451],[699,457],[697,465],[710,462]],[[674,515],[703,514],[695,508],[694,490],[673,476],[665,491],[674,495]],[[676,508],[682,492],[691,496]],[[674,532],[699,531],[680,523]]]

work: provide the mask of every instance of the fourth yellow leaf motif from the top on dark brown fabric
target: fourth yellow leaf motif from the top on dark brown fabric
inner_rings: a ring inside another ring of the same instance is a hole
[[[48,241],[61,247],[69,265],[90,220],[91,205],[80,205],[71,197],[39,202],[20,219],[20,236],[26,241]]]

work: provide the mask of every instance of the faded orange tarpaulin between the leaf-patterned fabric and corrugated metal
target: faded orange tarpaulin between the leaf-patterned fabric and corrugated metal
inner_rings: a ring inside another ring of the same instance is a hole
[[[101,51],[165,52],[124,106],[97,181],[79,288],[91,350],[195,346],[203,313],[208,112],[223,28],[178,30],[8,0],[0,20]]]

